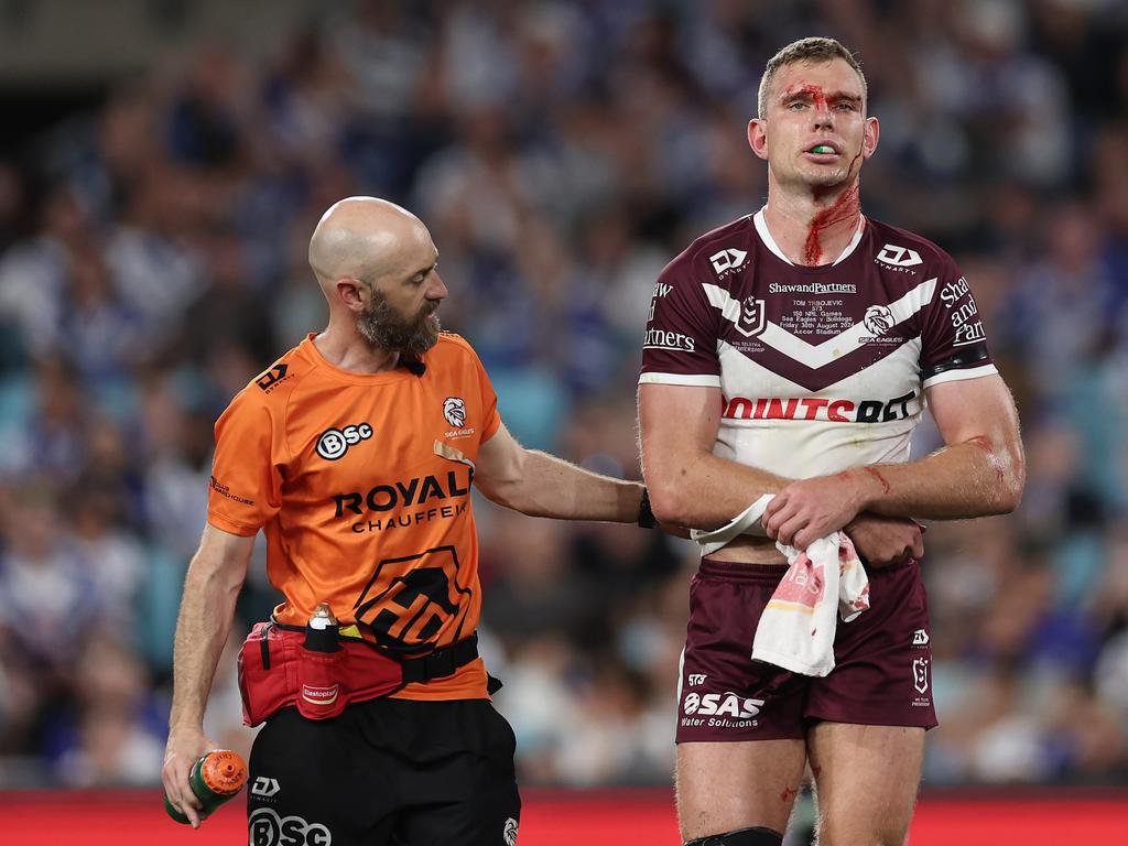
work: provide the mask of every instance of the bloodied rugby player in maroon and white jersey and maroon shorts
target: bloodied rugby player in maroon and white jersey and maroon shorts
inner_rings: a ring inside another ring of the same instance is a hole
[[[967,280],[936,245],[862,214],[878,138],[851,52],[787,45],[748,124],[767,204],[698,238],[655,285],[638,388],[654,513],[712,529],[775,494],[760,535],[705,556],[690,588],[677,801],[694,846],[781,844],[808,764],[821,846],[905,841],[936,724],[910,518],[1001,514],[1021,497],[1017,416]],[[946,446],[909,461],[926,405]],[[804,549],[843,529],[871,607],[838,625],[835,669],[752,662],[785,572],[776,540]]]

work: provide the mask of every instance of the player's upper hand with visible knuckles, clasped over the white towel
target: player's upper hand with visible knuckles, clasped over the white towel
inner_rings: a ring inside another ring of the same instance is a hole
[[[851,473],[792,482],[768,503],[764,529],[769,538],[805,550],[857,517],[864,504],[862,482]]]

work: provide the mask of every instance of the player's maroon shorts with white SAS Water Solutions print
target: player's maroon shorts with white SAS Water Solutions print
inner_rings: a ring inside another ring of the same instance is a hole
[[[835,669],[814,678],[752,661],[784,566],[704,558],[689,585],[679,743],[805,737],[811,723],[936,725],[928,601],[916,562],[870,569],[870,609],[838,620]]]

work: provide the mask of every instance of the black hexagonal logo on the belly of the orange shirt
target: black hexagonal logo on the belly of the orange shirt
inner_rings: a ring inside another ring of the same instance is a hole
[[[447,642],[461,640],[474,592],[459,584],[458,570],[452,546],[386,558],[353,606],[356,620],[381,646],[406,654],[431,651],[448,631]]]

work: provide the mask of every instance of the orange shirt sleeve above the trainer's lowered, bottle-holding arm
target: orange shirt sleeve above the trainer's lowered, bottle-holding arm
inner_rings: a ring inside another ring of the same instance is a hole
[[[270,409],[240,394],[215,421],[208,522],[232,535],[256,534],[282,505]]]

